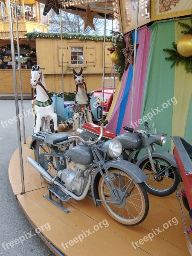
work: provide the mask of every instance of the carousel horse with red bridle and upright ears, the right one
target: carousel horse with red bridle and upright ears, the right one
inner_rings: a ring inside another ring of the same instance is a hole
[[[73,121],[77,132],[81,128],[81,117],[84,116],[85,122],[92,122],[89,96],[87,96],[87,87],[83,78],[83,69],[76,72],[73,68],[73,75],[76,82],[76,98],[73,104]],[[84,89],[85,86],[85,89]]]

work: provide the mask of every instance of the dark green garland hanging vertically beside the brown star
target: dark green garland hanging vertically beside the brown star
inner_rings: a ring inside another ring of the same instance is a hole
[[[122,34],[119,34],[117,36],[115,46],[118,55],[118,63],[116,64],[116,70],[119,76],[119,81],[121,81],[125,69],[125,56],[122,53],[122,49],[126,47],[125,38]]]

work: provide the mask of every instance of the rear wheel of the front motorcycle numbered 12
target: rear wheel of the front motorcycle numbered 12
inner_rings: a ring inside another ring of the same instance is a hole
[[[44,142],[41,142],[39,145],[39,148],[37,148],[37,143],[35,143],[34,146],[34,150],[35,152],[38,152],[39,157],[40,157],[40,165],[46,170],[46,172],[48,172],[52,177],[56,177],[57,176],[57,170],[59,170],[59,168],[57,168],[58,166],[60,166],[59,164],[59,159],[58,157],[50,157],[50,156],[44,156],[43,154],[47,153],[50,154],[52,153],[51,148],[49,148]],[[35,154],[35,161],[38,162],[38,157],[37,154]],[[43,175],[41,175],[41,177],[48,183],[48,184],[52,184],[51,182],[49,182]]]

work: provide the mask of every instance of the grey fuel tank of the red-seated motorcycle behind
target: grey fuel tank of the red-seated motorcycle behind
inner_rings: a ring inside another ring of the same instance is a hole
[[[138,134],[121,134],[118,135],[116,139],[121,142],[123,148],[127,149],[136,149],[142,145],[142,141]]]

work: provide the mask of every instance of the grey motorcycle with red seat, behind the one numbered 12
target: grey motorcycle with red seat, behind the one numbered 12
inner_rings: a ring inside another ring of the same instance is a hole
[[[144,181],[145,189],[153,195],[166,196],[176,191],[180,183],[180,173],[177,163],[172,154],[164,151],[156,151],[155,144],[163,146],[166,142],[166,134],[152,134],[148,130],[145,122],[145,130],[134,130],[123,127],[125,134],[116,135],[104,128],[102,140],[116,138],[122,144],[122,159],[134,163],[147,175]],[[84,140],[95,140],[99,134],[99,126],[90,122],[83,125],[83,130],[79,130],[79,136]],[[150,150],[150,147],[152,151]],[[138,157],[140,151],[145,149],[147,154]]]

